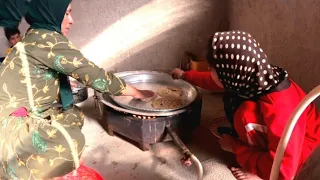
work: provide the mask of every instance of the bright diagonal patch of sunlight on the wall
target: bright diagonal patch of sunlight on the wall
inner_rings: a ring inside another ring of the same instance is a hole
[[[187,23],[204,9],[200,0],[154,0],[126,15],[104,30],[81,51],[104,68],[121,61],[121,54],[133,49],[142,50],[156,36]]]

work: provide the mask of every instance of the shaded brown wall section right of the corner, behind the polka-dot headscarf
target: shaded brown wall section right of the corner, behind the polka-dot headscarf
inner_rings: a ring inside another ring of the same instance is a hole
[[[250,32],[302,88],[320,84],[320,1],[230,0],[230,29]]]

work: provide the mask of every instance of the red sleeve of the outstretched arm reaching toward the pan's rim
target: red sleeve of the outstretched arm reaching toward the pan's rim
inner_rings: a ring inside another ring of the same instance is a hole
[[[211,72],[187,71],[184,73],[183,79],[195,86],[207,89],[213,92],[223,92],[223,88],[217,86],[211,78]]]

